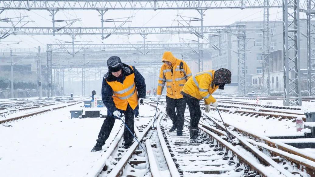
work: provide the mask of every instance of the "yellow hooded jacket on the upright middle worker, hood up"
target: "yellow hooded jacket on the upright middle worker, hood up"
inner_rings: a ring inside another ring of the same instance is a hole
[[[164,52],[162,61],[169,61],[171,66],[165,63],[161,66],[160,77],[158,79],[157,94],[161,95],[166,83],[166,96],[173,99],[183,98],[180,94],[186,81],[192,77],[189,66],[183,61],[183,68],[180,69],[181,60],[174,57],[171,52]],[[172,72],[173,70],[173,72]]]

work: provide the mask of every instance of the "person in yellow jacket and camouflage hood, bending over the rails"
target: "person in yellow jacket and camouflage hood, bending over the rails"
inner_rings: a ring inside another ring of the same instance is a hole
[[[231,83],[231,71],[225,68],[219,70],[209,70],[199,72],[190,78],[184,88],[182,94],[188,105],[190,113],[190,139],[191,142],[201,143],[202,139],[198,137],[198,124],[201,117],[201,110],[199,101],[204,99],[206,105],[205,112],[210,111],[210,103],[215,109],[218,106],[218,102],[213,98],[211,94],[216,89],[224,89],[225,84]]]

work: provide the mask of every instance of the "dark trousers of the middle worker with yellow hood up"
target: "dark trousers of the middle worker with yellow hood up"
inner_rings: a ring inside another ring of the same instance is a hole
[[[175,113],[175,108],[177,115]],[[173,99],[166,96],[166,112],[172,120],[173,126],[175,126],[178,131],[183,131],[184,128],[185,109],[186,102],[183,98]]]

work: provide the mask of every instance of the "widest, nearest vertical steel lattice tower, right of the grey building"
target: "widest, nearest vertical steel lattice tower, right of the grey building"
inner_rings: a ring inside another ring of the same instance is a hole
[[[293,5],[293,9],[288,8]],[[283,0],[284,105],[302,105],[299,0]],[[290,55],[291,53],[291,55]]]

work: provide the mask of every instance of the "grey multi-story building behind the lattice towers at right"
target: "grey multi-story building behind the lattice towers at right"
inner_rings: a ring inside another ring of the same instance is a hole
[[[232,25],[245,25],[246,29],[253,29],[246,31],[245,40],[245,65],[246,65],[246,85],[252,86],[252,75],[258,75],[262,73],[262,45],[263,45],[263,21],[247,21],[247,22],[237,22]],[[283,49],[283,24],[282,20],[270,21],[270,52],[273,53],[277,50]],[[306,20],[300,20],[300,64],[301,70],[307,68],[307,40],[303,34],[306,34]],[[216,35],[211,35],[209,40],[215,45],[219,46],[219,37]],[[291,42],[291,41],[289,41]],[[237,48],[237,37],[234,34],[221,32],[221,54],[218,50],[212,52],[212,66],[213,69],[228,68],[232,72],[232,82],[238,83],[238,48]],[[292,44],[291,44],[292,45]],[[291,51],[293,52],[293,51]],[[292,55],[292,53],[290,53]],[[270,57],[272,60],[272,57]],[[283,70],[283,60],[277,60],[277,66],[270,66],[270,72]],[[280,62],[280,63],[279,63]],[[261,74],[260,74],[261,75]],[[281,76],[282,80],[283,75]],[[271,78],[272,79],[272,78]],[[280,79],[279,79],[280,80]],[[259,81],[258,81],[259,82]],[[262,82],[262,81],[261,81]],[[272,82],[272,81],[271,81]],[[276,83],[276,81],[274,81]],[[283,85],[283,83],[281,83]],[[280,88],[281,85],[278,84]],[[281,89],[278,89],[281,90]]]

